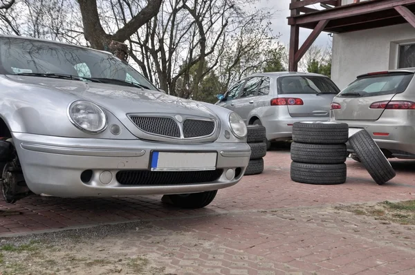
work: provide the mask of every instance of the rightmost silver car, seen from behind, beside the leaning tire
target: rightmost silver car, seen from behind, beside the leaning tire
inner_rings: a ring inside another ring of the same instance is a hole
[[[349,135],[366,129],[387,158],[415,159],[414,73],[408,68],[358,76],[334,97],[331,120],[349,124]]]

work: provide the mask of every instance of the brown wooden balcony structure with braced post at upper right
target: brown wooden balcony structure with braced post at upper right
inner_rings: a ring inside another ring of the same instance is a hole
[[[410,23],[415,28],[415,0],[354,0],[342,5],[341,0],[291,0],[290,58],[288,69],[298,70],[304,56],[321,32],[342,33]],[[324,10],[310,8],[318,4]],[[299,47],[299,28],[313,30]],[[415,33],[415,30],[414,30]]]

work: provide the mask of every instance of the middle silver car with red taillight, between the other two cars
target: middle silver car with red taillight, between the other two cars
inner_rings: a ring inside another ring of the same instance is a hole
[[[260,73],[233,84],[217,105],[238,113],[247,124],[266,128],[272,141],[291,140],[294,122],[330,119],[330,104],[339,88],[329,77],[314,73]]]

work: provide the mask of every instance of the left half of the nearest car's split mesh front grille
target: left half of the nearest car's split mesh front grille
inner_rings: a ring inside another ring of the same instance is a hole
[[[131,117],[136,126],[147,133],[180,138],[178,124],[169,117]]]

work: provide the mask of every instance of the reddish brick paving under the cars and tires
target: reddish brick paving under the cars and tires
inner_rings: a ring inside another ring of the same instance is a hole
[[[0,237],[142,220],[151,228],[106,242],[152,255],[166,273],[415,274],[415,227],[333,208],[414,199],[414,161],[391,160],[397,176],[382,186],[353,160],[345,184],[299,184],[290,180],[290,162],[286,150],[268,152],[264,173],[219,191],[205,209],[163,205],[160,196],[1,202],[21,215],[0,217]]]

